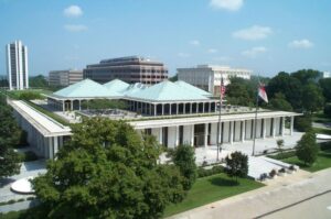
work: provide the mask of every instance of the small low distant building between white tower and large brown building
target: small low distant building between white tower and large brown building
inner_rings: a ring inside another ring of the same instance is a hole
[[[83,80],[83,70],[51,70],[49,84],[54,87],[64,87]]]

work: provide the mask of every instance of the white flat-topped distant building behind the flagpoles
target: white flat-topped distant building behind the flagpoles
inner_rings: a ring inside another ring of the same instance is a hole
[[[211,94],[220,94],[221,74],[224,85],[229,84],[231,77],[250,79],[252,70],[229,68],[227,66],[197,65],[191,68],[178,68],[178,79],[204,89]]]

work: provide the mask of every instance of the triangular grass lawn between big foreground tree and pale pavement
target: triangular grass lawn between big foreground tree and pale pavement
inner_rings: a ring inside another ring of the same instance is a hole
[[[170,205],[166,209],[164,217],[264,186],[248,178],[239,178],[238,183],[237,185],[224,173],[199,178],[182,202]]]

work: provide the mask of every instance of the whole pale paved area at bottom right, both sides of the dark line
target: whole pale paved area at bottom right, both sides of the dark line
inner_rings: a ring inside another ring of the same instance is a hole
[[[316,173],[299,171],[267,182],[268,186],[172,216],[170,219],[331,218],[330,182],[331,168]],[[309,204],[318,208],[310,206],[309,209],[302,209]]]

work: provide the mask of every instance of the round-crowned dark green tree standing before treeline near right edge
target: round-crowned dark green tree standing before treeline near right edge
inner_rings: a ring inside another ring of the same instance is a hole
[[[324,98],[322,90],[316,84],[308,84],[303,87],[302,107],[308,113],[312,113],[322,109]]]

